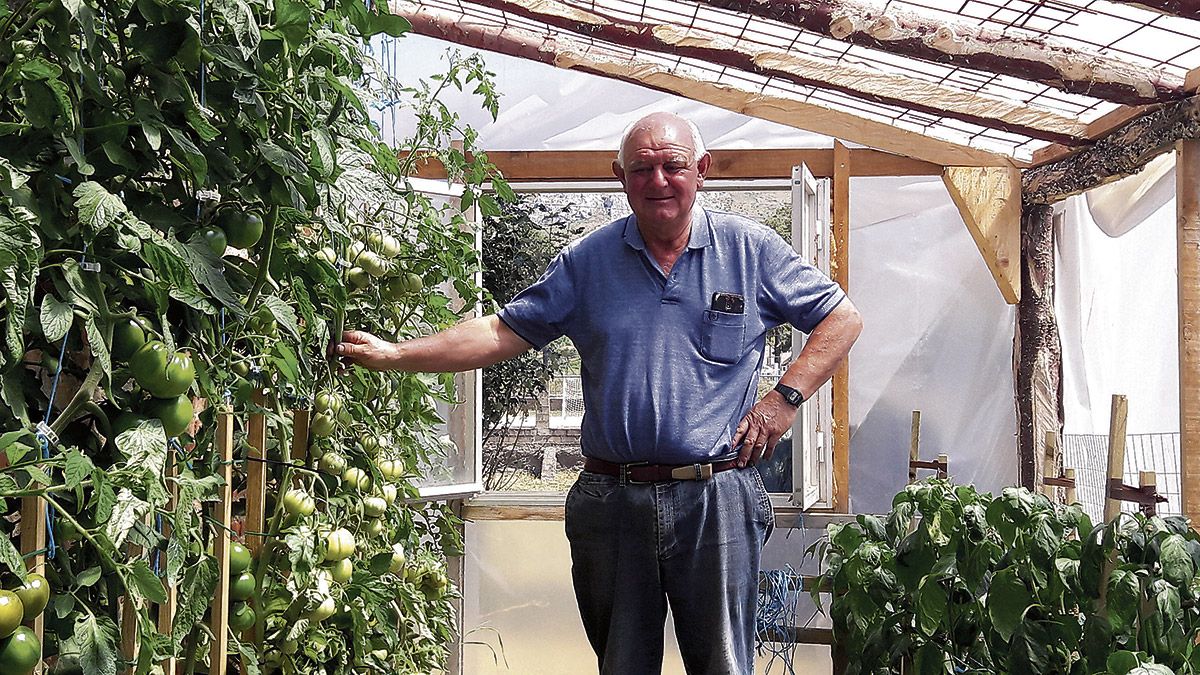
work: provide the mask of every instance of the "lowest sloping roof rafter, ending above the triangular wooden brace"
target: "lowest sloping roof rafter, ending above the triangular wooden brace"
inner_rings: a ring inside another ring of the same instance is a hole
[[[844,138],[916,160],[942,166],[1024,166],[1024,162],[1006,155],[930,138],[851,113],[794,98],[714,84],[671,72],[654,64],[604,56],[594,48],[586,50],[582,46],[559,37],[472,23],[462,20],[462,17],[454,13],[414,7],[409,4],[394,5],[392,11],[408,19],[418,35],[631,82],[744,115]]]

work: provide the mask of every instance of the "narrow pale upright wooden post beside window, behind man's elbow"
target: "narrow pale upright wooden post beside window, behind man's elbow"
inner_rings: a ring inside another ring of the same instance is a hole
[[[850,293],[850,148],[833,143],[829,274]],[[833,510],[850,513],[850,357],[833,375]]]

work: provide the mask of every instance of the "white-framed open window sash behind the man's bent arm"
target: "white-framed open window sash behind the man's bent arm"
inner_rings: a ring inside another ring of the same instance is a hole
[[[804,165],[792,167],[792,247],[829,274],[829,181]],[[792,354],[808,336],[792,329]],[[792,501],[803,509],[833,506],[833,383],[826,382],[800,406],[792,424]]]

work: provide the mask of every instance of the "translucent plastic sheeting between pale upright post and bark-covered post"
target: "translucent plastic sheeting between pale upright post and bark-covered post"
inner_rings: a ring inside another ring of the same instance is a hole
[[[1015,311],[941,179],[859,178],[850,195],[851,510],[887,512],[907,483],[916,410],[923,459],[949,455],[983,490],[1015,483]]]

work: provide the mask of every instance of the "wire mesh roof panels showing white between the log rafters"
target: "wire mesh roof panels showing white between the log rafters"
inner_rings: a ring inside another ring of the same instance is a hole
[[[1028,160],[1036,149],[1046,145],[1044,139],[982,126],[936,112],[874,102],[830,88],[797,84],[792,79],[708,60],[605,42],[587,31],[566,31],[490,7],[485,5],[487,2],[488,0],[419,0],[414,4],[446,12],[461,22],[517,28],[553,37],[578,47],[584,55],[650,64],[702,82],[814,103],[934,138],[1010,155],[1018,160]],[[852,44],[796,25],[704,4],[679,0],[559,0],[558,4],[625,22],[695,29],[715,34],[739,50],[787,53],[824,65],[900,76],[1081,123],[1093,121],[1118,107],[1114,102],[1063,91],[1036,80],[916,59],[884,48]],[[1166,16],[1127,2],[890,0],[872,7],[880,12],[919,16],[936,24],[978,26],[1006,37],[1044,41],[1055,47],[1151,68],[1181,80],[1189,71],[1200,67],[1200,20]]]

